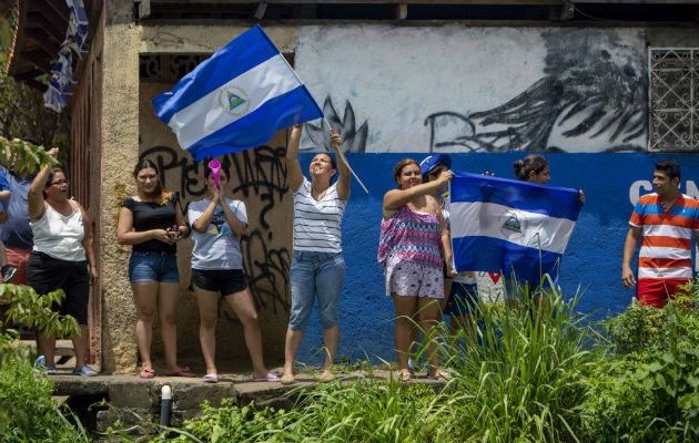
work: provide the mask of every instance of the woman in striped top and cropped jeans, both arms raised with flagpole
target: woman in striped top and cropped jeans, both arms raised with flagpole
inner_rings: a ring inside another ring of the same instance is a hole
[[[331,130],[331,145],[342,161],[336,166],[330,154],[317,154],[308,167],[308,182],[296,158],[302,128],[303,125],[292,128],[286,148],[288,183],[294,190],[294,257],[291,266],[292,307],[284,347],[283,384],[295,381],[294,360],[316,296],[326,351],[321,381],[334,380],[331,365],[340,342],[337,303],[345,280],[341,224],[350,198],[350,168],[338,150],[340,134]],[[337,182],[331,184],[337,171]]]

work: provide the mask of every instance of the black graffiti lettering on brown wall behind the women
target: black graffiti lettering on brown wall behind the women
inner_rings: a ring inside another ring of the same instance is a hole
[[[291,251],[286,247],[276,247],[278,245],[269,219],[270,210],[283,200],[288,190],[284,156],[284,147],[265,145],[221,158],[222,166],[231,172],[234,184],[232,192],[241,193],[246,200],[249,216],[251,200],[260,208],[257,219],[249,219],[251,227],[241,237],[243,266],[256,307],[267,308],[271,305],[275,313],[280,309],[288,310]],[[155,163],[161,183],[179,195],[184,214],[190,202],[204,196],[203,165],[207,164],[206,161],[195,163],[189,155],[183,155],[182,150],[170,146],[145,150],[141,158],[150,158]],[[232,319],[227,313],[226,317]]]

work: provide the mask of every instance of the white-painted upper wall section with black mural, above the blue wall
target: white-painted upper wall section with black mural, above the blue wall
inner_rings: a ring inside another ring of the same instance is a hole
[[[646,151],[639,31],[310,28],[297,65],[311,90],[327,94],[333,127],[365,119],[365,146],[350,152]],[[333,99],[346,101],[342,121]],[[306,134],[326,148],[321,127]]]

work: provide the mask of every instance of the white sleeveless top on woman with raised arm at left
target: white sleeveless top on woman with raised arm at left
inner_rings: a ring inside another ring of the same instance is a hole
[[[82,212],[74,203],[70,204],[74,210],[68,217],[45,204],[47,210],[43,216],[38,222],[29,224],[34,233],[33,250],[59,260],[85,260],[85,248],[82,246],[85,236]]]

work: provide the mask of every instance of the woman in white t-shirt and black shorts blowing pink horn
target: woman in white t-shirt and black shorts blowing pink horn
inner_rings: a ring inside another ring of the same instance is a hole
[[[219,171],[216,187],[212,171],[205,168],[206,198],[192,202],[188,218],[192,223],[192,285],[199,305],[199,338],[206,361],[204,382],[219,381],[216,352],[216,320],[219,297],[233,308],[243,324],[245,344],[253,363],[254,381],[278,381],[278,375],[267,371],[262,357],[262,334],[257,312],[247,290],[243,274],[241,236],[247,229],[245,204],[224,197],[230,173]]]

